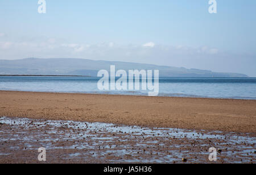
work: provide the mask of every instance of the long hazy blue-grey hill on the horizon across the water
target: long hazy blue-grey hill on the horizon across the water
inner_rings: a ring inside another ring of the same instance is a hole
[[[98,70],[158,69],[160,77],[248,77],[241,73],[218,73],[210,70],[185,69],[172,66],[133,62],[94,61],[86,59],[22,59],[0,60],[0,74],[97,76]]]

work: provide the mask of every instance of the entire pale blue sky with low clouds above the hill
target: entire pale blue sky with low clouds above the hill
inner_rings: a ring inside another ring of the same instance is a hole
[[[0,1],[0,59],[139,62],[256,77],[256,1]]]

